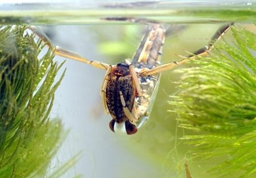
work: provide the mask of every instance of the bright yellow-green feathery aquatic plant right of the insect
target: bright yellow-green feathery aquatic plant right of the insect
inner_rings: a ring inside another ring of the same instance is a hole
[[[182,138],[198,148],[194,157],[227,155],[211,173],[255,176],[256,36],[239,26],[231,30],[232,45],[219,41],[213,55],[191,62],[199,67],[177,70],[181,90],[170,103],[176,106],[172,112],[178,114],[180,127],[196,131]]]

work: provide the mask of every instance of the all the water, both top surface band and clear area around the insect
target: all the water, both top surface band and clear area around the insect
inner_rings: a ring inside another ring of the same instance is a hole
[[[45,28],[53,44],[75,51],[89,60],[109,64],[131,58],[147,26],[103,22],[99,19],[101,17],[147,17],[166,24],[186,23],[183,31],[173,37],[166,37],[164,63],[178,60],[175,54],[186,55],[183,50],[195,51],[206,45],[220,21],[254,21],[250,14],[254,13],[255,5],[246,1],[237,4],[227,1],[222,6],[215,6],[218,1],[204,4],[188,2],[152,3],[134,9],[126,7],[125,11],[123,8],[99,7],[102,3],[51,7],[46,4],[41,7],[36,4],[22,5],[22,12],[18,11],[21,6],[5,6],[5,11],[0,11],[0,17],[4,19],[3,24],[54,25]],[[44,11],[46,7],[50,9],[47,14]],[[116,25],[110,25],[112,23]],[[225,35],[227,39],[231,37],[231,33]],[[124,48],[106,47],[121,45]],[[62,62],[65,59],[56,56],[54,60]],[[189,67],[189,64],[181,67]],[[76,173],[82,173],[84,177],[185,176],[184,169],[180,167],[183,167],[187,151],[192,148],[183,143],[176,145],[176,136],[181,137],[184,133],[177,128],[176,115],[167,112],[171,107],[167,104],[168,95],[176,92],[172,81],[178,80],[179,76],[172,74],[172,71],[163,72],[151,119],[138,133],[125,137],[109,130],[111,116],[106,116],[101,107],[99,90],[105,71],[69,59],[63,68],[67,68],[67,71],[56,92],[52,116],[60,116],[70,132],[58,159],[65,161],[82,151],[80,161],[64,177],[72,177]],[[210,163],[218,164],[222,160],[213,161],[188,162],[191,174],[204,177],[201,172],[207,170]]]

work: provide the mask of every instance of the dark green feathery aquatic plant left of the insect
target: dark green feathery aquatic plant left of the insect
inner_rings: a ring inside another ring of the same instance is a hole
[[[62,64],[49,50],[42,55],[42,41],[26,29],[0,28],[0,177],[59,177],[77,159],[50,169],[66,136],[60,119],[49,116],[65,71],[54,82]]]

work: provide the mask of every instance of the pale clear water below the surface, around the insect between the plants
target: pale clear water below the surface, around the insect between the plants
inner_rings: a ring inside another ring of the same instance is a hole
[[[90,60],[116,64],[132,57],[143,30],[147,27],[53,26],[54,30],[51,28],[48,31],[53,33],[54,44],[76,51]],[[204,46],[218,27],[219,25],[186,25],[180,33],[172,37],[167,36],[164,44],[164,62],[179,60],[175,54],[186,55],[184,49],[194,51]],[[129,31],[135,31],[133,38],[129,36]],[[230,36],[231,33],[226,34],[227,38]],[[122,49],[117,48],[108,49],[110,51],[106,53],[113,51],[109,55],[99,52],[102,50],[100,47],[113,44],[118,46],[121,43],[127,45],[125,52],[121,54]],[[56,56],[54,60],[62,62],[65,59]],[[180,67],[189,66],[185,64]],[[109,130],[111,116],[105,115],[101,107],[99,92],[105,71],[69,59],[63,68],[68,70],[56,92],[53,115],[61,116],[66,128],[70,130],[69,138],[61,150],[63,157],[66,159],[67,155],[83,151],[81,160],[74,167],[77,173],[83,173],[86,177],[159,177],[166,176],[164,172],[171,170],[167,176],[184,176],[184,169],[179,170],[178,167],[183,166],[183,156],[189,146],[181,144],[176,147],[175,132],[178,130],[178,137],[182,137],[183,132],[177,128],[176,115],[167,112],[171,109],[167,104],[170,100],[168,95],[177,91],[172,81],[177,81],[179,76],[174,75],[172,71],[163,72],[151,119],[138,133],[126,137]],[[178,149],[178,153],[174,148]],[[192,175],[196,175],[194,172],[206,170],[205,165],[208,166],[205,162],[191,165]],[[70,175],[73,175],[72,171]]]

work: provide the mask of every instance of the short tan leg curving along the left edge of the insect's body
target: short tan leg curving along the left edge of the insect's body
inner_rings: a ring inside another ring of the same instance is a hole
[[[104,76],[103,83],[101,84],[101,87],[100,87],[101,103],[103,105],[103,110],[107,115],[109,114],[109,111],[108,111],[107,102],[106,102],[106,88],[107,88],[107,83],[109,78],[108,74],[111,73],[111,70],[112,70],[112,66],[108,66],[108,70]]]

